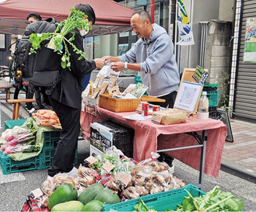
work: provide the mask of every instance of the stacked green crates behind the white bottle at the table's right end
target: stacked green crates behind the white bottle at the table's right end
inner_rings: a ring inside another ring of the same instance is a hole
[[[218,84],[205,83],[203,91],[207,92],[207,97],[209,99],[209,117],[216,118],[219,103]]]

